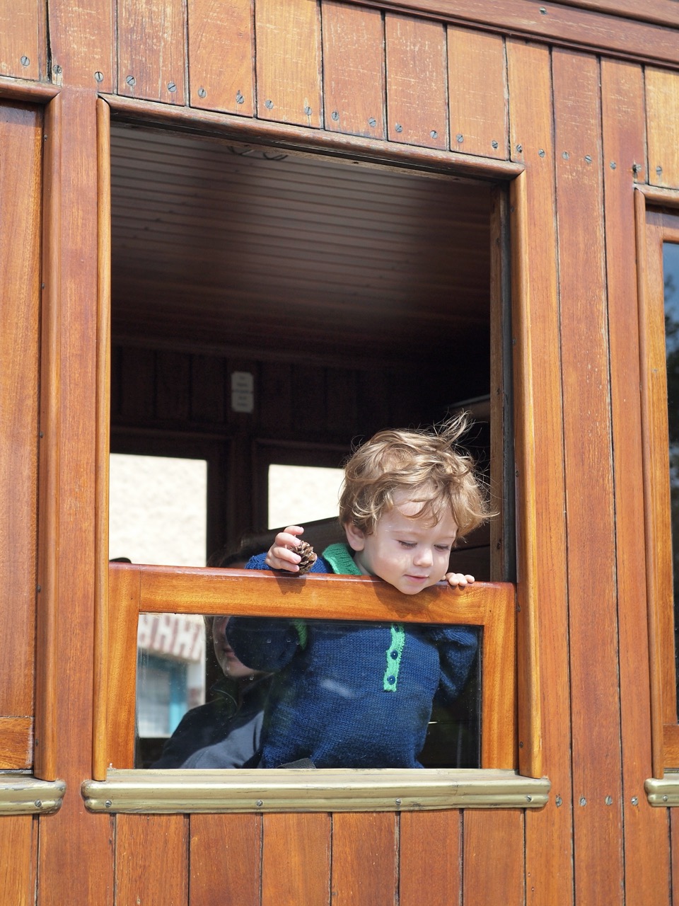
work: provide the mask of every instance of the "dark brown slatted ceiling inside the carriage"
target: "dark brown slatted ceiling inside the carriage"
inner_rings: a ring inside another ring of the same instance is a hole
[[[116,124],[120,342],[384,362],[487,336],[490,188]]]

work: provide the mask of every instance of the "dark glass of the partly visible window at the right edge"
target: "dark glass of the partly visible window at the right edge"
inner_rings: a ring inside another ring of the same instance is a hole
[[[667,420],[670,436],[670,500],[674,573],[674,658],[679,681],[679,245],[663,245]],[[677,696],[679,701],[679,695]]]

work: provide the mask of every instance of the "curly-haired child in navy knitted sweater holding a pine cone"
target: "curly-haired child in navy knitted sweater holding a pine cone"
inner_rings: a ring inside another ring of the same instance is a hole
[[[465,417],[440,430],[380,431],[349,458],[339,498],[347,544],[314,573],[375,575],[404,594],[445,579],[451,548],[490,516],[473,462],[456,442]],[[276,535],[250,569],[299,570],[303,529]],[[275,671],[260,751],[245,766],[421,767],[435,695],[454,699],[477,649],[471,628],[232,617],[237,657]]]

